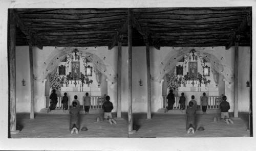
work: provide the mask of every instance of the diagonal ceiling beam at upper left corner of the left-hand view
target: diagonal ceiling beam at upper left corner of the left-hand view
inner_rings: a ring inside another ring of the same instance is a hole
[[[17,13],[12,10],[13,19],[15,20],[17,27],[27,36],[27,39],[32,42],[33,45],[36,45],[39,49],[42,49],[42,44],[40,41],[34,38],[32,31],[28,30],[28,28],[24,25],[23,21],[20,20]]]

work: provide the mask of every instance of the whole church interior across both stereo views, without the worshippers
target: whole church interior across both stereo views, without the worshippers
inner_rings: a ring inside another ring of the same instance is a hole
[[[252,8],[8,9],[8,73],[9,138],[252,137]],[[185,110],[195,96],[204,131],[186,133],[181,93]],[[75,95],[88,128],[78,135],[69,131]],[[106,95],[117,124],[96,121]],[[219,122],[224,95],[233,124]]]

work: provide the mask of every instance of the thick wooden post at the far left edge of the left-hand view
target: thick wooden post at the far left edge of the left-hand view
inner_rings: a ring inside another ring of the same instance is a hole
[[[10,18],[9,18],[10,19]],[[11,134],[16,134],[16,24],[10,24],[9,33],[9,65],[10,65],[10,102],[9,102],[9,112],[10,112],[10,132]]]

